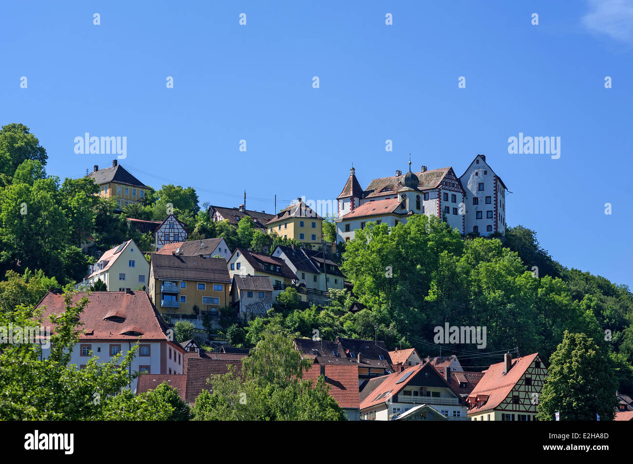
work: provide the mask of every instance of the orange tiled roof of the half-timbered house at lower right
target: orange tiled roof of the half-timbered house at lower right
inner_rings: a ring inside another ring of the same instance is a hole
[[[499,406],[501,401],[506,399],[523,374],[525,374],[525,370],[530,367],[530,364],[532,364],[538,356],[539,353],[533,353],[531,355],[513,359],[510,371],[508,371],[505,375],[503,374],[505,370],[505,363],[499,362],[492,364],[488,370],[486,370],[484,377],[482,377],[469,395],[486,395],[488,396],[488,399],[486,403],[479,408],[469,409],[468,415],[491,410]]]

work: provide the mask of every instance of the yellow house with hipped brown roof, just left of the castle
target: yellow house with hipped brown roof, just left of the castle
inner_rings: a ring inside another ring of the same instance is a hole
[[[310,248],[321,245],[323,217],[316,214],[306,203],[297,198],[297,202],[273,217],[266,227],[269,233],[285,238],[294,238],[297,243],[305,243]]]

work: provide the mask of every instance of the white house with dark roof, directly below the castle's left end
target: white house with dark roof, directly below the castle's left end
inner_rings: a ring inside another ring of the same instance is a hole
[[[329,291],[342,290],[344,278],[339,266],[328,259],[327,252],[310,248],[284,247],[278,245],[272,252],[273,257],[279,257],[290,267],[297,276],[297,291],[302,300],[316,305],[327,304]]]

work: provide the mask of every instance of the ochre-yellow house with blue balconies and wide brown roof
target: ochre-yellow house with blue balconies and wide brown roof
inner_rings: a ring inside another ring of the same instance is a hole
[[[149,297],[160,312],[170,315],[217,315],[229,304],[229,271],[224,258],[151,255]]]

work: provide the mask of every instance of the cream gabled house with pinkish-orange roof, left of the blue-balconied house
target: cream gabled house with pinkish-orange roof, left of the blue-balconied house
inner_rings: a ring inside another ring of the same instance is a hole
[[[88,266],[88,275],[75,288],[86,288],[97,280],[106,284],[108,291],[125,291],[147,285],[149,263],[134,240],[103,253],[99,260]]]

